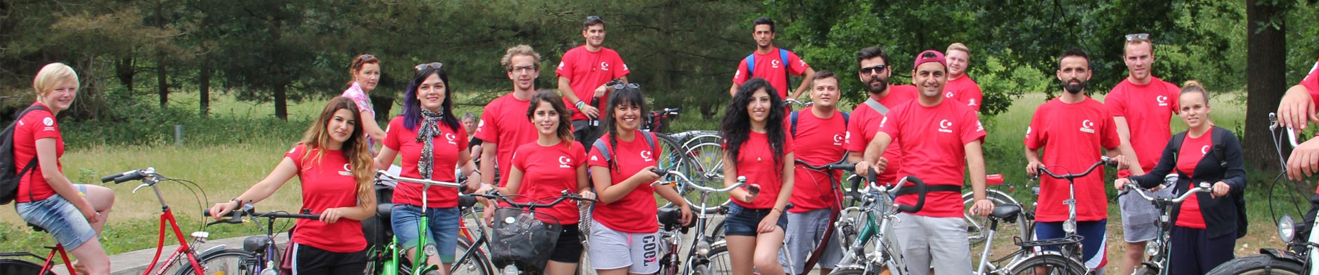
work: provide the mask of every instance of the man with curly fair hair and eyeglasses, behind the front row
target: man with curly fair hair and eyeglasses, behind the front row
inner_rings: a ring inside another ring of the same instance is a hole
[[[476,126],[476,138],[483,140],[481,164],[487,164],[480,167],[483,192],[496,176],[499,186],[504,186],[512,171],[508,167],[513,165],[514,149],[537,138],[536,126],[526,120],[526,108],[532,104],[532,95],[536,95],[541,54],[532,46],[517,45],[508,48],[500,65],[504,65],[508,79],[513,82],[513,91],[485,104],[481,122]],[[499,175],[496,167],[503,168]]]

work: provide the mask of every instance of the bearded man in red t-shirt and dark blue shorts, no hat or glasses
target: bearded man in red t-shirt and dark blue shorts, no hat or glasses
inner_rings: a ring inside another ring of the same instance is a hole
[[[1039,168],[1058,172],[1086,171],[1100,159],[1101,149],[1117,156],[1117,130],[1104,103],[1086,95],[1089,81],[1089,57],[1086,52],[1067,50],[1058,59],[1058,81],[1063,93],[1039,104],[1026,128],[1026,175],[1039,176]],[[1039,149],[1045,149],[1041,160]],[[1119,159],[1119,161],[1121,161]],[[1108,197],[1104,193],[1104,168],[1075,180],[1076,234],[1082,241],[1082,255],[1087,268],[1103,274],[1108,262],[1105,225],[1108,225]],[[1042,177],[1039,180],[1039,208],[1035,210],[1035,235],[1039,239],[1064,237],[1067,205],[1071,198],[1066,180]],[[1057,251],[1057,246],[1045,247]]]

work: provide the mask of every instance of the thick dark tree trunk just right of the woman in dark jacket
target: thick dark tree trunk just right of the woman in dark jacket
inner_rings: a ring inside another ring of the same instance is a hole
[[[1269,135],[1264,134],[1268,127],[1268,114],[1278,110],[1278,99],[1286,93],[1286,26],[1278,28],[1261,25],[1260,22],[1270,17],[1281,16],[1285,11],[1273,5],[1260,5],[1258,1],[1246,1],[1246,118],[1245,118],[1245,163],[1256,164],[1261,169],[1277,169],[1278,161]]]

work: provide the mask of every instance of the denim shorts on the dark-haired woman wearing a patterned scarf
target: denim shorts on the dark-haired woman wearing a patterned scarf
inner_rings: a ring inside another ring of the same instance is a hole
[[[398,245],[402,245],[404,250],[417,247],[417,222],[421,222],[421,206],[394,204],[389,213]],[[454,262],[454,254],[458,251],[458,208],[426,209],[426,217],[430,218],[430,225],[426,227],[426,243],[435,243],[435,249],[439,250],[439,262]]]

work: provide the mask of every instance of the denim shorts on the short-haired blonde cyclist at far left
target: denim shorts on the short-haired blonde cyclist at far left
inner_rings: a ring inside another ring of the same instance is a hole
[[[86,186],[78,188],[86,190]],[[87,217],[83,217],[74,204],[58,194],[41,201],[20,202],[17,209],[22,221],[45,229],[67,251],[77,250],[87,241],[96,238],[96,230],[91,229]]]

